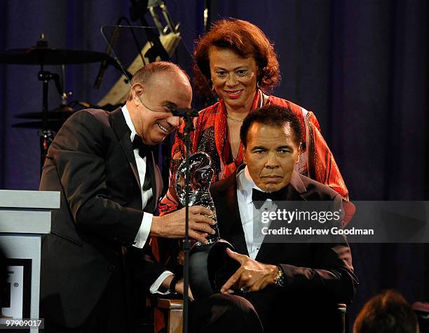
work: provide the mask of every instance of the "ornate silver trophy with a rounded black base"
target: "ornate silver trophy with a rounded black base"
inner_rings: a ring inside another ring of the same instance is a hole
[[[189,156],[189,206],[204,206],[214,215],[216,209],[210,195],[210,184],[213,178],[212,160],[206,153],[198,152]],[[176,173],[176,193],[180,203],[185,205],[185,172],[186,161],[180,164]],[[193,297],[208,297],[219,292],[224,283],[236,272],[238,262],[226,254],[226,248],[234,250],[231,243],[220,238],[219,227],[213,227],[215,233],[207,236],[207,244],[194,243],[189,254],[189,285]]]

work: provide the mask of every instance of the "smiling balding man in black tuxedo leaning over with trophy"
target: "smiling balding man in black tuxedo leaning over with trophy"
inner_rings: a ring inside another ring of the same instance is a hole
[[[149,149],[191,106],[189,78],[177,65],[139,69],[125,106],[83,110],[55,136],[40,190],[61,193],[51,234],[43,238],[41,318],[46,332],[131,332],[146,292],[183,292],[183,283],[151,260],[149,236],[184,236],[184,210],[153,215],[163,188]],[[213,233],[210,210],[190,209],[189,234]],[[207,232],[205,232],[207,231]]]

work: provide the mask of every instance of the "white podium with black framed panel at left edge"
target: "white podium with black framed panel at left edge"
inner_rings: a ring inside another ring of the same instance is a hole
[[[41,236],[50,233],[55,208],[60,192],[0,190],[0,247],[10,285],[9,307],[0,309],[0,318],[39,318]]]

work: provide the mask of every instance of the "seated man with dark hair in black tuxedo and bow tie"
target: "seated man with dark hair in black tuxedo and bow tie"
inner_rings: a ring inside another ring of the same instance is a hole
[[[193,302],[194,332],[338,332],[336,304],[350,303],[357,286],[346,240],[254,239],[257,204],[341,202],[331,188],[294,171],[301,130],[296,116],[280,106],[264,106],[245,118],[240,139],[246,165],[211,187],[220,235],[236,248],[227,252],[240,268],[222,293]]]

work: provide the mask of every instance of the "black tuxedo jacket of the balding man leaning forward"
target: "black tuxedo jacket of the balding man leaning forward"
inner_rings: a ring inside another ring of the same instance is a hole
[[[154,157],[148,161],[154,199],[144,211],[153,213],[163,186]],[[132,284],[134,270],[148,290],[165,270],[131,246],[143,216],[140,188],[121,108],[79,111],[64,123],[49,148],[40,184],[40,190],[61,193],[51,234],[42,243],[41,315],[46,320],[77,327],[112,274],[120,272]]]

